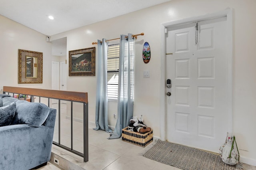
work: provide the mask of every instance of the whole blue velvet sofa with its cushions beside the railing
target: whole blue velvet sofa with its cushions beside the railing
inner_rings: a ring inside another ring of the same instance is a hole
[[[29,170],[50,160],[56,109],[0,94],[0,170]]]

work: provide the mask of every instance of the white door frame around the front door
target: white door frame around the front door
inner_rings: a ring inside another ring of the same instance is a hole
[[[161,25],[161,82],[160,82],[160,138],[166,140],[166,28],[176,27],[200,20],[227,17],[227,57],[228,57],[228,132],[233,132],[233,10],[227,9],[213,14],[166,22]]]

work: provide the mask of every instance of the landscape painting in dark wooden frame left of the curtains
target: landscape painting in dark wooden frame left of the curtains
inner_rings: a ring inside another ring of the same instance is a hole
[[[95,76],[95,47],[68,52],[69,76]]]

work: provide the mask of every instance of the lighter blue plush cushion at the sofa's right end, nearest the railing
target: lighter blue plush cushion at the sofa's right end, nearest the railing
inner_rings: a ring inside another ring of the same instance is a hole
[[[50,108],[44,103],[31,103],[16,101],[16,114],[12,125],[26,123],[30,126],[40,127],[48,117]]]

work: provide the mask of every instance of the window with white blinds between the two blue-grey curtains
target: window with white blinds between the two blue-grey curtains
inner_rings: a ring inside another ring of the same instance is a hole
[[[119,44],[108,45],[108,99],[112,100],[118,97],[119,47]]]

